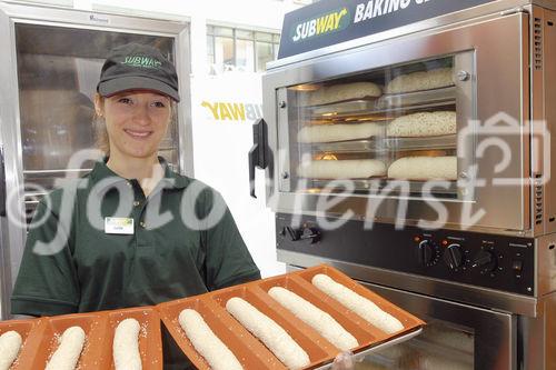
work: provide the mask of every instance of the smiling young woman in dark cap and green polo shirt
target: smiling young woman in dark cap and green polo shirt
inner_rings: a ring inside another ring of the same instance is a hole
[[[259,279],[221,197],[157,157],[179,101],[173,66],[151,47],[118,47],[97,91],[106,158],[39,204],[12,314],[156,304]]]

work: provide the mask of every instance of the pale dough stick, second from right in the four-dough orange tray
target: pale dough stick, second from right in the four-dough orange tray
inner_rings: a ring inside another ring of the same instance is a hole
[[[348,351],[359,346],[357,339],[329,313],[296,293],[281,287],[274,287],[268,294],[340,350]]]

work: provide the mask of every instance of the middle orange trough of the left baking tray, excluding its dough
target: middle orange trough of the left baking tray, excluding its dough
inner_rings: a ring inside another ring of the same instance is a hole
[[[34,358],[26,362],[26,369],[44,369],[58,348],[58,338],[70,327],[79,326],[87,338],[76,368],[79,370],[103,369],[102,348],[106,339],[107,316],[100,312],[72,313],[43,318],[38,332],[38,348]]]

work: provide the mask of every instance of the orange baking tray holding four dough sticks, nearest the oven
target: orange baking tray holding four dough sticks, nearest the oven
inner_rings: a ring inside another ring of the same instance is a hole
[[[373,327],[356,313],[344,308],[315,288],[310,283],[310,278],[316,273],[326,273],[336,281],[354,289],[359,294],[371,299],[381,309],[396,316],[404,323],[405,330],[394,334],[387,334]],[[207,370],[209,367],[195,351],[179,326],[177,318],[179,312],[186,308],[197,310],[203,317],[207,324],[230,348],[246,370],[286,369],[286,367],[279,362],[258,339],[252,337],[226,311],[226,302],[232,297],[240,297],[247,300],[280,324],[308,353],[311,363],[305,369],[330,368],[331,361],[340,350],[282,308],[267,293],[268,289],[276,286],[296,292],[315,306],[327,311],[340,322],[340,324],[356,337],[360,343],[359,347],[354,349],[357,357],[364,357],[373,349],[394,346],[395,343],[408,340],[419,334],[425,324],[424,321],[387,302],[379,296],[359,286],[344,273],[328,266],[319,266],[304,271],[296,271],[201,296],[161,303],[157,306],[157,309],[172,338],[198,369]]]

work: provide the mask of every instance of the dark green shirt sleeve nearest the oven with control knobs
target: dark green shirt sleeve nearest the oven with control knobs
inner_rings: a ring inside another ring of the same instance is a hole
[[[207,288],[216,290],[260,279],[260,271],[220,193],[212,189],[205,191],[205,204],[206,214],[211,210],[216,214],[222,214],[216,222],[210,217],[203,220],[208,222],[203,231]],[[219,209],[220,212],[217,211]]]

